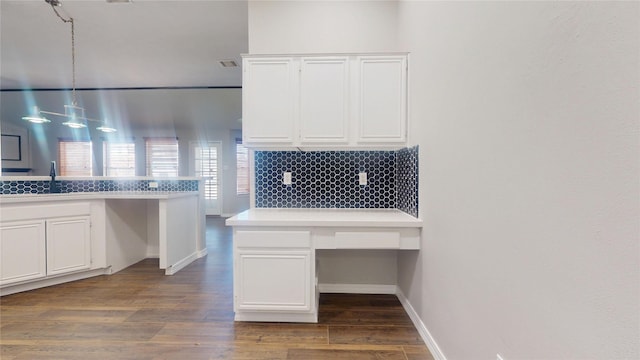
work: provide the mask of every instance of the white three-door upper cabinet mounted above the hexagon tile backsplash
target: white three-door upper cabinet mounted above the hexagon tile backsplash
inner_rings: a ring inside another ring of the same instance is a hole
[[[407,55],[246,55],[244,144],[389,148],[407,141]]]

